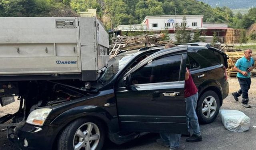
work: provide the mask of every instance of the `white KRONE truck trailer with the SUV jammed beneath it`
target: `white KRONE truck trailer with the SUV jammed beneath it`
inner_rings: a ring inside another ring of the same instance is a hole
[[[58,82],[58,93],[75,96],[76,92],[61,87],[82,89],[106,68],[108,33],[96,18],[14,17],[0,22],[0,102],[5,106],[19,96],[18,114],[27,116],[46,99],[51,104],[70,100],[60,95],[47,98],[57,91],[49,88],[49,81]],[[0,124],[13,117],[0,118]]]

